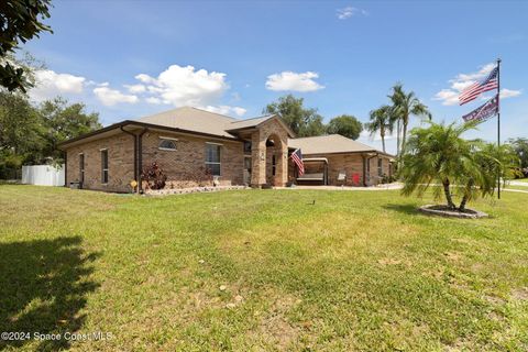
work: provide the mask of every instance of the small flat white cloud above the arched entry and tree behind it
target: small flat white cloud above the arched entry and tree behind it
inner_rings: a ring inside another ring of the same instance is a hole
[[[315,81],[315,78],[319,78],[319,74],[312,72],[302,74],[283,72],[267,76],[266,88],[276,91],[315,91],[324,88],[324,86]]]

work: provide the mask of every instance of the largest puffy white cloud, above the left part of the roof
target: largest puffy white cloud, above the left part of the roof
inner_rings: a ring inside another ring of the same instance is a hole
[[[136,75],[135,78],[147,85],[148,92],[175,107],[208,106],[229,89],[226,74],[195,70],[193,66],[172,65],[156,78],[145,74]]]

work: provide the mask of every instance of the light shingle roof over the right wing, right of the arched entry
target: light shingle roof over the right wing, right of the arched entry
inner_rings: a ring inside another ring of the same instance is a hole
[[[378,152],[374,147],[353,141],[340,134],[308,136],[304,139],[289,139],[288,146],[300,147],[302,154],[351,153],[351,152]],[[386,153],[384,153],[386,154]]]

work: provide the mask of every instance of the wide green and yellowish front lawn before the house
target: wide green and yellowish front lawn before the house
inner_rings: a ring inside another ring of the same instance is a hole
[[[0,331],[111,337],[0,350],[526,351],[527,199],[455,220],[398,191],[3,185]]]

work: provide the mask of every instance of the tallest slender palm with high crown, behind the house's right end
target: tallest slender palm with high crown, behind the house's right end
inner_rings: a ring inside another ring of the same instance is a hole
[[[405,150],[407,140],[407,128],[409,125],[410,116],[422,116],[431,119],[427,106],[420,102],[414,91],[405,92],[402,84],[396,84],[393,87],[393,94],[389,96],[393,101],[393,109],[395,118],[398,123],[398,155]],[[399,125],[402,123],[402,127]],[[399,143],[399,129],[402,128],[402,144]]]

